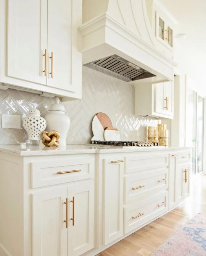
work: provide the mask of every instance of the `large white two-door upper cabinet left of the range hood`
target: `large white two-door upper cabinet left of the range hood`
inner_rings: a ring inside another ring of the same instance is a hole
[[[0,10],[0,82],[80,99],[82,0],[2,0]]]

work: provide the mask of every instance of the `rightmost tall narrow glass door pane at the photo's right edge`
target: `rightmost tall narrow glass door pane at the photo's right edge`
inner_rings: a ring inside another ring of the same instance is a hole
[[[203,172],[203,130],[204,130],[204,98],[198,96],[197,106],[197,173]]]

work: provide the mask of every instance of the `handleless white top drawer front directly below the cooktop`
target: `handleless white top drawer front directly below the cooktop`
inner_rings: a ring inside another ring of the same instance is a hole
[[[140,172],[143,170],[158,169],[161,167],[168,167],[167,153],[152,154],[147,152],[146,154],[138,156],[125,157],[125,173]]]

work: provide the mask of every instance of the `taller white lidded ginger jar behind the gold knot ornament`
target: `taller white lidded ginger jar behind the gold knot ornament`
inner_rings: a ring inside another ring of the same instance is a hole
[[[60,134],[59,143],[60,146],[66,146],[66,136],[69,131],[70,118],[66,115],[64,106],[60,104],[60,99],[55,99],[55,104],[51,104],[50,112],[45,115],[47,121],[47,131],[58,131]]]

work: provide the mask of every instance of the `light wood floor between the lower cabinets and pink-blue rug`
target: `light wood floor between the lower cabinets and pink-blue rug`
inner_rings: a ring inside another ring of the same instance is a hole
[[[97,256],[148,256],[198,213],[206,214],[206,175],[192,177],[185,204],[151,222]]]

